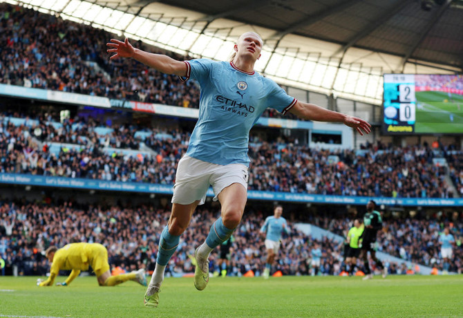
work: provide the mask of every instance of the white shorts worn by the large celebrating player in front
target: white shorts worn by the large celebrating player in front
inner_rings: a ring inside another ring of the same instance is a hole
[[[220,192],[233,183],[240,183],[247,190],[247,167],[240,163],[216,165],[190,156],[178,162],[176,184],[173,185],[172,203],[187,205],[200,200],[205,203],[207,189],[212,186],[214,201]]]

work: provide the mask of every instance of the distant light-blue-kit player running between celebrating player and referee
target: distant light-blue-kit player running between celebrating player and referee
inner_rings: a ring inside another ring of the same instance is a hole
[[[265,249],[267,250],[267,261],[265,262],[265,270],[263,273],[264,279],[270,277],[270,270],[275,261],[278,250],[280,250],[281,235],[283,232],[289,234],[287,230],[287,223],[283,214],[283,207],[276,205],[274,208],[274,215],[265,218],[264,225],[261,227],[261,233],[265,233]]]

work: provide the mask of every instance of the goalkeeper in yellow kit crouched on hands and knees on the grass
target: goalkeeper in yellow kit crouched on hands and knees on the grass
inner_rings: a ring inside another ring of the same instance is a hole
[[[147,286],[144,270],[111,276],[108,250],[98,243],[70,243],[60,249],[56,246],[50,246],[45,255],[51,263],[50,277],[46,281],[37,281],[38,286],[53,286],[60,270],[72,270],[64,283],[57,283],[57,286],[68,286],[79,276],[81,270],[88,270],[88,266],[91,266],[97,275],[100,286],[115,286],[129,280]]]

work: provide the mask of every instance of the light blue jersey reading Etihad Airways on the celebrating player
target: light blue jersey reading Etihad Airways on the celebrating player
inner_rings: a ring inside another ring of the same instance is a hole
[[[267,107],[285,114],[297,100],[272,79],[240,71],[231,62],[192,59],[187,77],[200,84],[199,118],[189,141],[187,156],[229,165],[249,166],[249,131]]]

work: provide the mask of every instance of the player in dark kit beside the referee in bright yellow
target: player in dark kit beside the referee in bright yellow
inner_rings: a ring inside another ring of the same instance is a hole
[[[376,236],[379,230],[383,227],[383,220],[381,219],[381,214],[375,210],[376,203],[373,200],[370,200],[366,205],[366,214],[363,216],[363,224],[365,229],[363,234],[361,234],[359,241],[361,241],[361,252],[360,259],[363,259],[363,264],[365,265],[365,274],[366,277],[363,279],[372,279],[373,274],[370,270],[370,264],[368,263],[368,252],[370,252],[370,257],[378,268],[381,268],[383,272],[383,278],[388,274],[387,268],[384,267],[383,263],[376,258]]]

